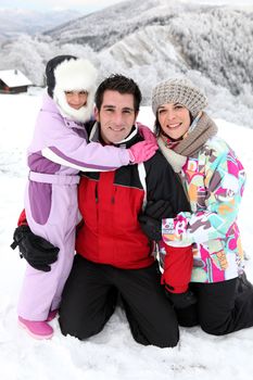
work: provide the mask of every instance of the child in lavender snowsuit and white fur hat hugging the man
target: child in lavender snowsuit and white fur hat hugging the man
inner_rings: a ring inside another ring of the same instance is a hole
[[[78,221],[79,170],[114,170],[149,160],[156,145],[141,141],[130,149],[87,143],[85,124],[93,109],[97,71],[72,55],[50,60],[48,94],[39,111],[28,149],[29,180],[25,212],[31,231],[60,249],[50,271],[27,266],[18,302],[18,322],[37,339],[53,334],[48,324],[56,314],[68,277]],[[74,312],[75,313],[75,312]]]

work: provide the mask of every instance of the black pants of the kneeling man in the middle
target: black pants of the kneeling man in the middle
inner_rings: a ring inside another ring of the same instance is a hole
[[[80,340],[100,332],[121,296],[134,339],[141,344],[173,347],[178,343],[176,314],[160,284],[156,263],[119,269],[76,255],[60,309],[63,334]]]

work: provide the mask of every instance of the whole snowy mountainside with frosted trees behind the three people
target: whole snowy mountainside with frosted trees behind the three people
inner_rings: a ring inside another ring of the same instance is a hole
[[[159,80],[187,74],[204,88],[213,116],[253,128],[252,7],[128,0],[2,45],[0,69],[20,68],[41,85],[46,62],[63,53],[90,59],[99,80],[115,72],[131,76],[143,104]]]

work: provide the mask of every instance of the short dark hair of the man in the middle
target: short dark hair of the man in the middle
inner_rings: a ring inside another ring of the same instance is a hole
[[[103,94],[106,90],[117,91],[122,94],[130,93],[134,96],[134,106],[135,112],[139,111],[140,102],[141,102],[141,92],[139,86],[131,78],[127,78],[121,74],[113,74],[106,79],[104,79],[98,87],[94,94],[94,102],[98,110],[101,110],[101,105],[103,102]]]

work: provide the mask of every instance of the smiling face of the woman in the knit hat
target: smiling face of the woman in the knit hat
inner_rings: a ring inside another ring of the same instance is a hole
[[[180,139],[191,124],[190,112],[179,103],[160,105],[157,118],[163,132],[174,140]]]

